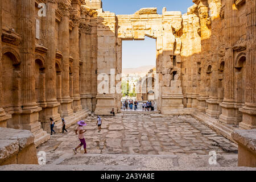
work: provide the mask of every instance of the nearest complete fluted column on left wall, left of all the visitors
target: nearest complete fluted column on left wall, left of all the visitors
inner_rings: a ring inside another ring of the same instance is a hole
[[[35,132],[40,129],[38,107],[35,100],[35,0],[20,2],[19,32],[22,36],[20,56],[22,57],[22,117],[23,129]]]

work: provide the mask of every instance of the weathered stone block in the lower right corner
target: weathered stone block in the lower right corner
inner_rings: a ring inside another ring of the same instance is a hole
[[[256,130],[236,130],[232,138],[238,142],[238,166],[256,167]]]

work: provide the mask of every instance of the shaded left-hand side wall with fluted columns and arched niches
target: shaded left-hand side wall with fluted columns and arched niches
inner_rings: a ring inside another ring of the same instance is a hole
[[[95,110],[99,3],[0,2],[0,127],[30,130],[38,145],[49,118],[59,131],[61,117]]]

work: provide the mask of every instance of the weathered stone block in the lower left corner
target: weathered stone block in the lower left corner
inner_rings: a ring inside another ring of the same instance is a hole
[[[7,164],[38,164],[30,131],[0,128],[0,165]]]

